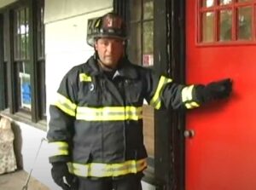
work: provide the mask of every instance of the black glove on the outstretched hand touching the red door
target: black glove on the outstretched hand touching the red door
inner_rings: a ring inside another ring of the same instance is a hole
[[[230,78],[208,83],[204,88],[204,101],[212,101],[226,98],[232,91],[232,82]]]

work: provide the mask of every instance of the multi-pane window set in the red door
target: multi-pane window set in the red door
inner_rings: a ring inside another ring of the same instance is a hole
[[[256,43],[256,0],[199,0],[198,43]]]

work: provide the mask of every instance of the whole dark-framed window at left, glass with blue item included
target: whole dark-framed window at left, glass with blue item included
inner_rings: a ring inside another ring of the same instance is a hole
[[[4,103],[7,108],[9,102],[10,113],[24,112],[38,122],[46,118],[44,0],[17,5],[4,15],[3,68],[10,76],[4,82],[4,89],[10,89]]]

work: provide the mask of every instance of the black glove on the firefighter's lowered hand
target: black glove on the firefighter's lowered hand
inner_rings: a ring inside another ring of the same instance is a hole
[[[51,176],[55,183],[63,190],[78,189],[78,178],[69,173],[67,164],[65,162],[53,163],[51,168]]]

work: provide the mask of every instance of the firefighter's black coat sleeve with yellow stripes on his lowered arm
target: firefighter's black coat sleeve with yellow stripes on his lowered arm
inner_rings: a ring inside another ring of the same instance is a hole
[[[73,76],[67,74],[56,92],[55,101],[49,106],[49,162],[67,162],[72,147],[73,122],[76,112],[78,89]]]

